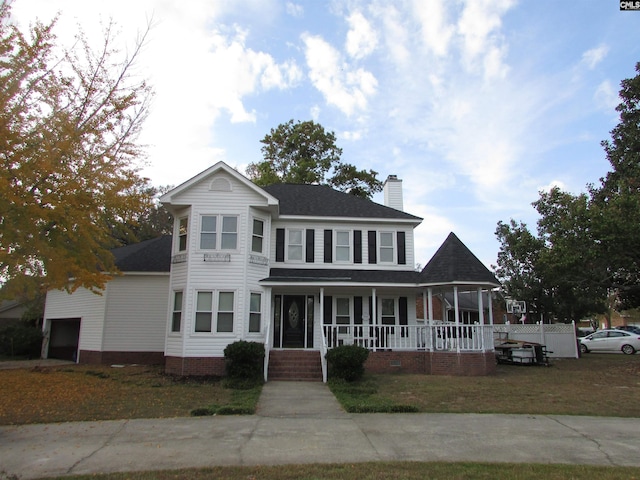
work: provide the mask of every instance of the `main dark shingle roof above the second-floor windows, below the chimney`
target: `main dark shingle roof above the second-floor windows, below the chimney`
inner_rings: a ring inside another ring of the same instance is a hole
[[[315,217],[422,219],[394,208],[385,207],[366,198],[356,197],[325,185],[269,185],[263,189],[280,202],[281,215]]]

